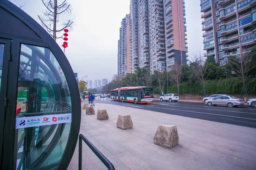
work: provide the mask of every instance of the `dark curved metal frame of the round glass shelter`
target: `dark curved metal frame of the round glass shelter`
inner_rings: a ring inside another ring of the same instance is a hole
[[[42,28],[35,20],[33,20],[28,14],[22,11],[20,8],[10,3],[7,0],[0,0],[0,8],[8,11],[10,16],[18,18],[24,25],[29,27],[35,35],[22,36],[17,33],[10,34],[1,31],[0,38],[12,40],[11,53],[12,61],[9,62],[9,76],[6,91],[6,98],[9,99],[9,105],[6,107],[5,112],[0,110],[0,115],[5,113],[4,123],[4,139],[3,139],[3,152],[0,153],[4,160],[1,160],[0,169],[15,169],[16,157],[17,157],[17,139],[15,137],[15,112],[16,112],[16,99],[17,99],[17,83],[19,74],[19,62],[20,62],[20,44],[29,44],[35,46],[41,46],[49,48],[52,54],[59,62],[65,77],[67,77],[67,84],[70,90],[71,105],[72,105],[72,122],[70,125],[70,133],[67,140],[67,145],[64,150],[63,156],[58,164],[57,169],[67,169],[70,160],[72,159],[74,150],[76,148],[77,139],[79,136],[80,122],[81,122],[81,105],[79,90],[77,88],[76,78],[73,74],[73,70],[65,57],[61,48],[52,39],[52,37]],[[6,17],[6,16],[3,16]],[[10,28],[11,29],[11,28]],[[22,31],[21,31],[22,32]],[[23,34],[26,34],[23,33]],[[31,34],[31,32],[28,32]],[[35,38],[38,36],[37,38]],[[10,42],[10,41],[9,41]],[[6,57],[5,57],[6,58]],[[4,68],[6,70],[6,68]],[[3,82],[3,81],[2,81]],[[3,83],[2,83],[3,84]],[[2,87],[1,87],[2,89]],[[4,89],[4,88],[3,88]],[[1,90],[1,95],[4,93]],[[1,130],[1,129],[0,129]]]

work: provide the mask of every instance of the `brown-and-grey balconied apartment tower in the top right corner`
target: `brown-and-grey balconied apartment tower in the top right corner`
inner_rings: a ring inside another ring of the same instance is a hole
[[[201,0],[205,57],[223,65],[256,44],[256,0]]]

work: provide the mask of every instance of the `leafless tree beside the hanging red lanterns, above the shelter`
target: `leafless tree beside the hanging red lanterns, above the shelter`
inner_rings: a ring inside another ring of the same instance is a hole
[[[58,5],[58,0],[42,0],[44,6],[47,8],[43,11],[43,16],[38,15],[39,20],[41,21],[42,26],[48,31],[52,38],[56,41],[56,33],[69,28],[73,28],[73,19],[72,20],[63,20],[64,14],[70,15],[72,13],[72,7],[68,4],[67,0]],[[62,22],[60,25],[61,28],[57,29],[59,22]]]

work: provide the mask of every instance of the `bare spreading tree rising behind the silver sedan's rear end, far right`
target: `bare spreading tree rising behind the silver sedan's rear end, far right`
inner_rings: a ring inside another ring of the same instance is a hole
[[[254,49],[255,50],[255,49]],[[253,57],[256,57],[254,52],[243,51],[240,53],[240,57],[230,56],[228,58],[228,63],[224,66],[228,75],[235,75],[239,81],[243,83],[244,100],[247,99],[246,93],[246,81],[255,74],[254,69],[256,68],[253,63]]]

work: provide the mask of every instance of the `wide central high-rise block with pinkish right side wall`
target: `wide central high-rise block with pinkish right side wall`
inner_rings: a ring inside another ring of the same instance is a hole
[[[131,72],[136,66],[153,72],[170,70],[175,64],[186,64],[184,3],[184,0],[131,0]]]

